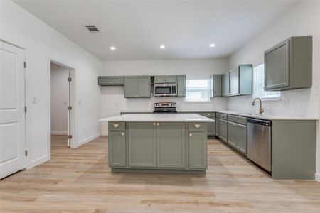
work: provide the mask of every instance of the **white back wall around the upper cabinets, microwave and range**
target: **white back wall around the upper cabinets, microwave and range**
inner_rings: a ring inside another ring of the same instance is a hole
[[[225,58],[203,60],[144,60],[103,62],[100,75],[178,75],[209,77],[227,69]],[[100,87],[102,92],[102,117],[119,115],[121,111],[153,111],[154,102],[176,102],[178,111],[213,111],[227,109],[227,100],[213,98],[208,103],[184,102],[184,98],[152,97],[151,99],[126,99],[124,87]],[[102,134],[107,135],[107,124],[102,124]]]

